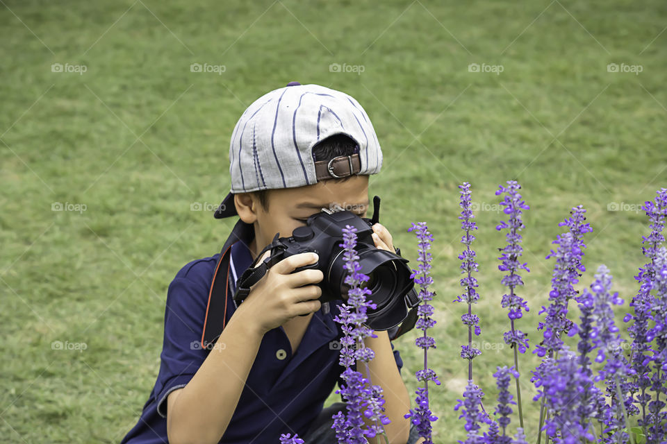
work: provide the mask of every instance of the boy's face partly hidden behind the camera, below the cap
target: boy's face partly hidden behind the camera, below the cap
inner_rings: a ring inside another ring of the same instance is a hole
[[[295,228],[306,225],[311,214],[320,208],[340,205],[343,209],[365,217],[368,212],[368,176],[352,176],[344,181],[323,180],[304,187],[270,189],[265,212],[253,194],[236,197],[236,209],[242,221],[252,223],[255,238],[249,248],[253,259],[270,244],[276,233],[289,237]]]

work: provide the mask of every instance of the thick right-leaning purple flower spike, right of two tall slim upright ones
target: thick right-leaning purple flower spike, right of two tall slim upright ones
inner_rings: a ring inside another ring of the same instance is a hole
[[[558,245],[556,252],[554,253],[554,250],[551,250],[550,255],[546,257],[546,259],[552,256],[556,257],[556,264],[551,280],[552,290],[549,292],[551,304],[548,309],[542,307],[538,313],[547,313],[544,323],[538,323],[538,330],[544,329],[544,339],[533,350],[540,357],[546,355],[547,352],[552,354],[560,350],[563,347],[561,334],[570,332],[574,327],[573,322],[568,320],[566,315],[569,300],[577,294],[573,284],[579,282],[579,276],[581,276],[579,271],[586,271],[584,264],[582,264],[583,249],[586,245],[581,238],[584,233],[592,230],[588,223],[584,223],[584,220],[586,220],[585,212],[586,210],[582,205],[573,207],[570,212],[572,216],[559,223],[559,226],[567,226],[569,231],[559,234],[557,239],[552,242]]]

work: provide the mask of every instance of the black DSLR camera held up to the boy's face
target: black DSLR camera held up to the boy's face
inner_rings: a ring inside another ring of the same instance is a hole
[[[315,252],[319,259],[315,264],[298,267],[293,271],[306,268],[319,269],[324,278],[318,283],[322,289],[320,302],[347,299],[349,287],[345,284],[347,271],[344,268],[343,228],[352,225],[356,228],[356,252],[359,255],[360,273],[368,275],[369,280],[363,285],[370,290],[366,300],[374,302],[375,309],[368,309],[366,325],[373,330],[389,330],[402,323],[408,311],[418,305],[415,282],[411,278],[411,269],[406,265],[408,260],[397,253],[379,250],[371,237],[372,225],[379,217],[379,197],[373,199],[373,218],[356,214],[334,207],[330,210],[322,208],[318,213],[308,217],[306,225],[296,228],[290,237],[274,237],[258,255],[261,257],[266,250],[271,250],[262,264],[255,267],[255,262],[238,279],[236,293],[233,298],[239,304],[247,297],[252,287],[265,275],[268,268],[286,257],[299,253]],[[255,259],[257,260],[257,259]]]

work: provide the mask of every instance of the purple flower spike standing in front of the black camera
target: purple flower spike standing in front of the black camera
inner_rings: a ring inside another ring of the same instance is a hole
[[[376,337],[372,329],[365,325],[367,320],[366,311],[368,307],[374,309],[376,305],[372,302],[366,302],[366,295],[371,291],[368,288],[361,287],[361,284],[368,280],[368,276],[359,273],[361,264],[359,264],[359,255],[356,254],[356,228],[351,225],[345,225],[343,228],[343,259],[345,260],[345,284],[349,287],[347,292],[347,303],[341,304],[340,314],[334,320],[342,324],[342,330],[345,337],[340,341],[340,365],[345,367],[341,376],[345,384],[340,384],[340,393],[343,400],[347,402],[347,415],[342,412],[332,416],[334,425],[331,428],[336,429],[336,437],[339,443],[347,444],[365,444],[368,441],[365,436],[370,438],[377,434],[385,434],[384,425],[390,420],[382,411],[384,411],[384,398],[382,396],[381,386],[372,385],[370,380],[351,366],[356,361],[364,362],[368,369],[368,361],[373,359],[374,352],[365,347],[363,339],[365,337]],[[370,371],[367,370],[370,375]],[[366,383],[370,387],[366,387]],[[363,416],[369,418],[374,424],[368,429],[363,429]],[[386,436],[386,435],[385,435]]]

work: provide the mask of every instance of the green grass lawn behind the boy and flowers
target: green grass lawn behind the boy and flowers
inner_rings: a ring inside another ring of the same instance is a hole
[[[607,205],[636,205],[666,186],[666,19],[659,1],[3,1],[2,441],[117,443],[133,427],[158,372],[167,285],[190,260],[217,253],[233,225],[190,203],[217,205],[229,191],[236,120],[290,80],[343,90],[370,115],[384,153],[371,196],[383,198],[384,224],[412,264],[406,229],[429,223],[438,293],[429,363],[443,382],[431,389],[434,438],[463,439],[453,411],[467,378],[465,307],[451,302],[461,291],[457,185],[471,182],[472,200],[494,205],[498,184],[522,184],[531,310],[518,325],[531,344],[550,282],[544,257],[573,205],[588,209],[594,229],[582,285],[607,264],[628,301],[648,223]],[[191,73],[194,62],[226,71]],[[53,73],[53,63],[87,71]],[[331,73],[331,63],[364,72]],[[504,71],[471,73],[470,63]],[[609,63],[643,72],[609,73]],[[52,212],[54,202],[87,209]],[[492,345],[508,327],[501,216],[478,212],[473,244],[479,340]],[[396,341],[411,393],[417,334]],[[87,349],[51,350],[53,341]],[[520,361],[530,441],[537,362]],[[491,374],[510,363],[508,348],[475,359],[488,409]]]

